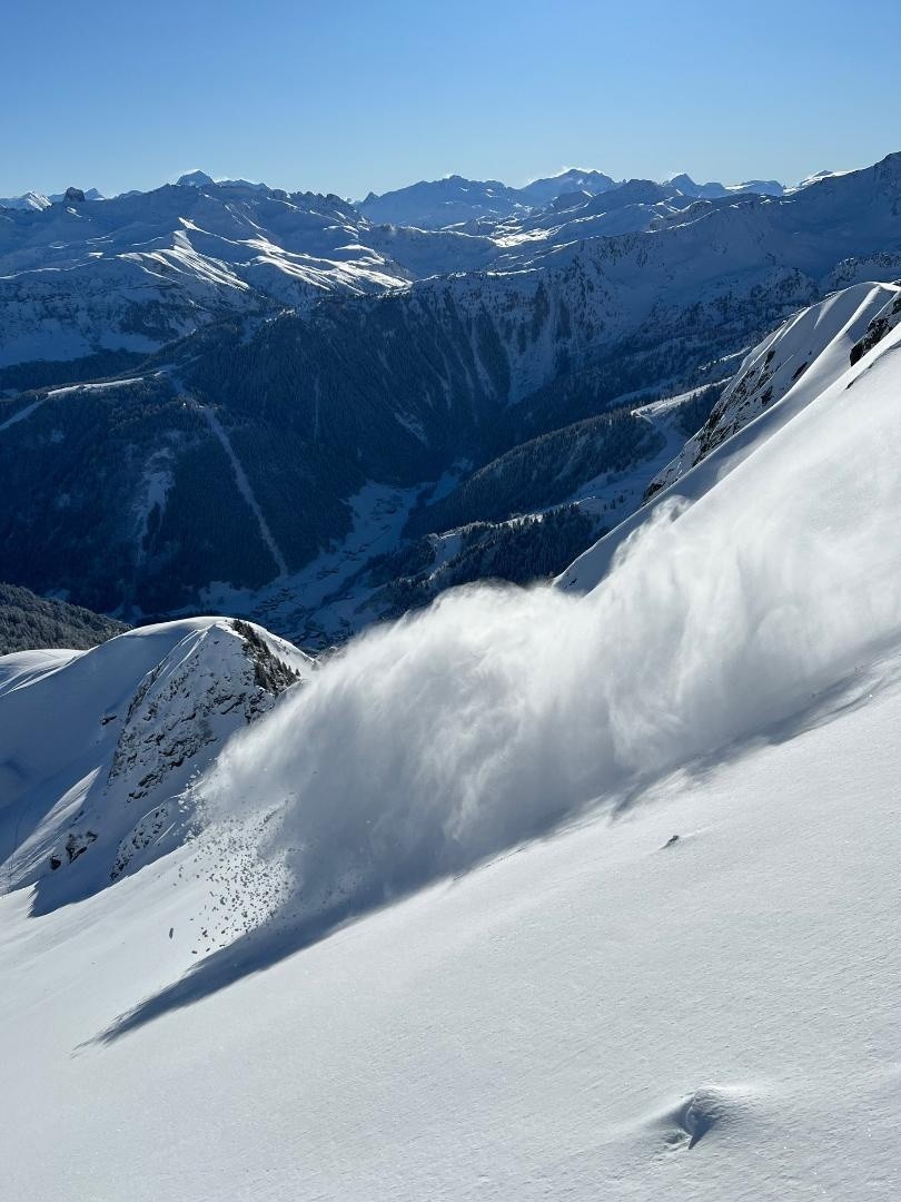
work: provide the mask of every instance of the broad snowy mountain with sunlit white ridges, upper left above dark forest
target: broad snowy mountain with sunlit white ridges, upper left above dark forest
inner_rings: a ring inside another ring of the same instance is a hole
[[[171,185],[0,215],[0,365],[154,350],[222,310],[309,305],[407,278],[338,197]]]

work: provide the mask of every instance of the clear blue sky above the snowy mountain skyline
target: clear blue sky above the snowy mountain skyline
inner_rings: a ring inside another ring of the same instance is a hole
[[[901,149],[897,0],[6,4],[0,195],[202,167],[358,197],[452,172],[794,182]]]

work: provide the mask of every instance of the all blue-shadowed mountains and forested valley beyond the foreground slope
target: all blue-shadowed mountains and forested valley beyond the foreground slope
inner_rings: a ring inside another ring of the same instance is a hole
[[[0,578],[323,645],[555,573],[750,345],[901,276],[901,155],[786,195],[557,179],[454,228],[199,172],[0,213]]]

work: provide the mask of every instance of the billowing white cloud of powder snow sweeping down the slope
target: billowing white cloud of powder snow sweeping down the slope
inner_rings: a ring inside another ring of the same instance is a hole
[[[476,588],[351,644],[226,748],[211,811],[279,809],[324,930],[847,683],[901,631],[897,344],[657,506],[590,594]]]

